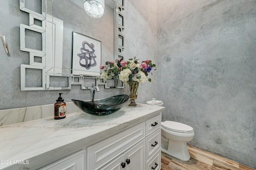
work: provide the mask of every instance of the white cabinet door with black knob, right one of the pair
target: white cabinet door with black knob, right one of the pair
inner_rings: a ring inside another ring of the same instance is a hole
[[[144,170],[145,169],[145,140],[138,143],[124,153],[126,163],[125,170]]]

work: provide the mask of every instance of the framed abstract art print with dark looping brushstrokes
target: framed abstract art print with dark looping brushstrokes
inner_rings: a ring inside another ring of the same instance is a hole
[[[100,76],[101,41],[73,31],[72,74]]]

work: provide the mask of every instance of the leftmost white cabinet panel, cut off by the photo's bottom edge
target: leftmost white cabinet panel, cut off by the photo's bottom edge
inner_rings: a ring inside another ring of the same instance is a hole
[[[84,170],[84,151],[76,152],[39,170]]]

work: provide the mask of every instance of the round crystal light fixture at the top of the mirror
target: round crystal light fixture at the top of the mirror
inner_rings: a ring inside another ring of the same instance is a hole
[[[100,18],[104,13],[104,0],[84,0],[84,10],[93,18]]]

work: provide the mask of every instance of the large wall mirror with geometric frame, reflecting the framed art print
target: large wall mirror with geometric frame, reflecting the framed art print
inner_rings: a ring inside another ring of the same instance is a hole
[[[104,82],[98,69],[124,58],[124,0],[105,0],[97,19],[86,14],[83,0],[20,0],[20,10],[29,13],[29,25],[20,24],[20,50],[30,54],[30,63],[20,66],[21,90],[90,89],[92,82],[124,88],[114,79]],[[88,55],[94,60],[86,61]],[[26,81],[28,75],[37,82]]]

